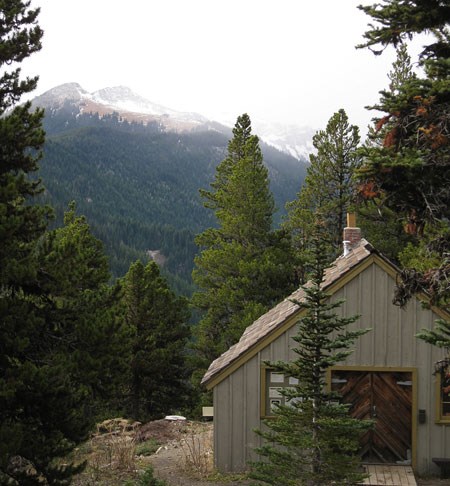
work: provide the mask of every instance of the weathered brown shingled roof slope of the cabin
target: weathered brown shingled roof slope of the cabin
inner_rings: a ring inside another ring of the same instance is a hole
[[[378,254],[370,243],[365,239],[361,239],[346,255],[337,258],[326,270],[322,288],[324,290],[329,288],[373,253]],[[252,348],[263,338],[274,333],[288,318],[301,309],[301,305],[299,306],[292,301],[294,300],[301,304],[304,298],[305,292],[300,288],[248,326],[241,339],[211,363],[208,371],[203,376],[202,384],[207,385],[210,383],[211,380],[225,371],[242,355],[250,353]]]

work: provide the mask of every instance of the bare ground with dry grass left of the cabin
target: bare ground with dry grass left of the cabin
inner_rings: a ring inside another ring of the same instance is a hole
[[[249,484],[242,476],[215,474],[212,423],[205,422],[155,420],[141,425],[108,420],[98,425],[97,432],[71,460],[88,462],[84,472],[74,478],[74,486],[132,484],[149,465],[154,477],[168,486]]]

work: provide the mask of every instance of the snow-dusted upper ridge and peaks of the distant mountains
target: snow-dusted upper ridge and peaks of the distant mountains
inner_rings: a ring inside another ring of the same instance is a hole
[[[97,112],[101,116],[118,112],[122,118],[129,121],[157,121],[167,130],[173,131],[189,131],[199,127],[220,130],[217,122],[208,120],[198,113],[181,112],[153,103],[126,86],[103,88],[89,93],[78,83],[66,83],[34,98],[32,102],[35,106],[44,107],[52,112],[67,108],[72,112]],[[252,119],[252,124],[253,132],[261,140],[296,159],[308,161],[309,154],[314,151],[312,137],[315,130],[310,127],[259,119]],[[224,122],[224,125],[233,126],[234,121]],[[225,127],[222,126],[222,129]]]

